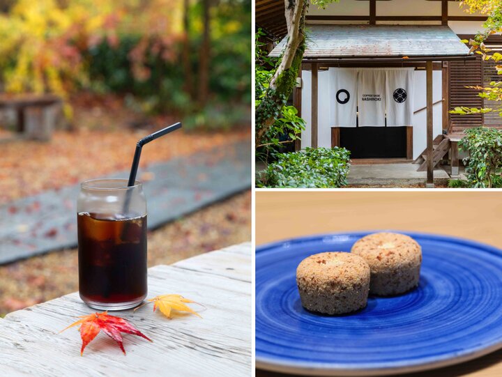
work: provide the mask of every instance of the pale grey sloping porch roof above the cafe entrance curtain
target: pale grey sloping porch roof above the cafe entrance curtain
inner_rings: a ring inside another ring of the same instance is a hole
[[[287,37],[269,54],[282,54]],[[307,25],[303,59],[468,56],[464,45],[442,25]]]

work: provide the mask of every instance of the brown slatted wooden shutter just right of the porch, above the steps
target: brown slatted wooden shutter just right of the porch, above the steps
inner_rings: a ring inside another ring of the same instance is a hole
[[[455,107],[482,107],[479,91],[466,86],[481,86],[483,83],[482,60],[450,61],[448,62],[450,84],[450,109]],[[450,114],[450,131],[459,132],[464,128],[479,127],[483,119],[481,114],[455,115]]]

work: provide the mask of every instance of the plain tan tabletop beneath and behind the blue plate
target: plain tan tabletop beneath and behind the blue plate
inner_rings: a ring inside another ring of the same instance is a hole
[[[315,233],[394,229],[471,238],[502,248],[502,192],[256,192],[256,244]],[[257,371],[257,376],[282,376]],[[408,376],[502,376],[502,350]]]

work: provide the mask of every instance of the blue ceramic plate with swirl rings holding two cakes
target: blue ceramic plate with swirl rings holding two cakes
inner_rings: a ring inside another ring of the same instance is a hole
[[[370,297],[365,309],[345,316],[303,309],[298,263],[319,252],[349,252],[367,234],[296,238],[257,248],[257,368],[377,376],[444,367],[502,348],[502,251],[469,240],[406,233],[422,246],[418,288]]]

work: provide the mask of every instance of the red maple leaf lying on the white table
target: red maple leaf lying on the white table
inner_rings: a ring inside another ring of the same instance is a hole
[[[109,316],[107,311],[89,314],[89,316],[81,316],[80,318],[82,319],[72,323],[64,330],[80,325],[79,332],[80,337],[82,338],[82,349],[80,350],[81,356],[84,354],[84,349],[87,344],[91,343],[101,330],[103,330],[105,334],[119,344],[119,347],[124,355],[126,355],[126,350],[123,348],[121,332],[127,332],[128,334],[137,335],[138,337],[152,341],[125,319],[116,316]],[[61,332],[64,330],[61,330]]]

